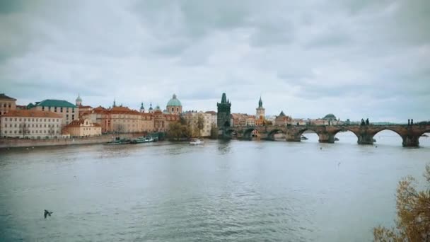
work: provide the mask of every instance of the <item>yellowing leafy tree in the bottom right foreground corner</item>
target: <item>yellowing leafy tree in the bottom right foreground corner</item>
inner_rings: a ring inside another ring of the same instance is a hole
[[[396,228],[378,226],[373,229],[375,241],[430,241],[430,166],[424,172],[426,190],[416,190],[412,176],[401,180],[397,186]]]

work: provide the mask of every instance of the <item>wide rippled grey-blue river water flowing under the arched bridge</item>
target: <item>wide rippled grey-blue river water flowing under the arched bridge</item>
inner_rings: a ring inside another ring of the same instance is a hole
[[[430,163],[430,137],[306,135],[0,150],[0,241],[371,241],[400,178]]]

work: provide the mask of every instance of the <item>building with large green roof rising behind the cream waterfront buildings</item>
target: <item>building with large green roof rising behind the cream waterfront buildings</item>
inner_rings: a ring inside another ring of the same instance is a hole
[[[66,100],[46,99],[29,105],[31,110],[48,111],[62,115],[62,125],[68,125],[73,120],[79,119],[79,108]]]

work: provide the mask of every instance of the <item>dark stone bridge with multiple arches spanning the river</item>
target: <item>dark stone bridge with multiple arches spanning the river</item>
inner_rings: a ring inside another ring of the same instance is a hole
[[[419,137],[430,132],[430,125],[291,125],[291,126],[244,126],[220,129],[221,138],[252,139],[252,131],[257,130],[260,139],[274,140],[274,134],[285,134],[286,141],[300,142],[301,135],[306,130],[318,134],[321,143],[334,143],[338,132],[351,131],[358,138],[358,144],[373,144],[373,137],[383,130],[391,130],[402,137],[405,147],[419,146]]]

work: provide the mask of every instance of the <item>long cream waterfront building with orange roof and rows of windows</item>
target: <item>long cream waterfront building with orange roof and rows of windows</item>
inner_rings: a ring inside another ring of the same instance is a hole
[[[62,137],[63,116],[42,110],[10,110],[0,116],[0,136],[30,139]]]

